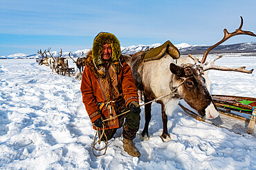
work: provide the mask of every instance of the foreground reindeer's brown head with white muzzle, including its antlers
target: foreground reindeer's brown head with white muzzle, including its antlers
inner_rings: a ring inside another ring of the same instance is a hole
[[[219,113],[217,111],[217,108],[214,106],[214,103],[212,102],[212,98],[210,96],[210,93],[208,92],[208,89],[205,86],[205,79],[203,78],[202,74],[206,70],[222,70],[222,71],[234,71],[234,72],[244,72],[251,74],[253,72],[252,70],[246,70],[246,67],[220,67],[217,65],[214,65],[214,61],[217,59],[220,59],[222,56],[217,56],[216,58],[212,59],[210,62],[205,62],[206,57],[210,50],[212,50],[214,47],[217,47],[227,39],[229,39],[232,36],[239,35],[239,34],[247,34],[250,36],[256,36],[253,32],[244,31],[241,30],[241,27],[243,25],[243,18],[241,17],[241,24],[235,32],[229,33],[226,29],[224,29],[224,37],[221,41],[218,43],[212,45],[208,48],[203,54],[203,58],[201,61],[194,58],[192,55],[190,58],[194,60],[193,64],[185,64],[185,65],[175,65],[174,63],[171,63],[170,70],[174,76],[174,80],[176,80],[176,83],[182,83],[181,87],[179,88],[179,95],[181,98],[185,100],[186,103],[188,103],[192,108],[196,109],[196,111],[199,112],[201,116],[205,116],[206,118],[216,118]]]

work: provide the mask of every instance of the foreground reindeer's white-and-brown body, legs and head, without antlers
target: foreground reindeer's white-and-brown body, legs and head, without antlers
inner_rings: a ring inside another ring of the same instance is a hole
[[[182,60],[182,58],[180,59]],[[187,67],[187,75],[185,75],[184,67],[175,65],[174,59],[167,53],[156,61],[147,61],[140,65],[137,65],[137,62],[140,63],[139,55],[134,54],[131,58],[131,70],[138,89],[143,91],[145,103],[171,94],[175,87],[182,83],[176,90],[175,96],[170,95],[157,101],[162,108],[163,134],[161,137],[164,141],[170,140],[167,133],[167,115],[172,115],[179,103],[179,98],[183,98],[192,108],[199,111],[201,116],[216,118],[219,115],[212,104],[212,98],[205,86],[205,79],[194,68],[193,64],[184,65]],[[187,79],[185,80],[185,78]],[[190,85],[191,83],[193,85]],[[149,137],[148,125],[151,119],[151,104],[145,105],[145,119],[145,128],[141,134],[143,138]]]

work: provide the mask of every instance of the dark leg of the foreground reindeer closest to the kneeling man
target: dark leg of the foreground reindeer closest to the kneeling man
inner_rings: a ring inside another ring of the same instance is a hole
[[[147,103],[149,100],[147,100],[147,97],[144,95],[145,103]],[[140,135],[140,140],[147,140],[149,139],[149,122],[151,119],[151,105],[152,103],[149,103],[145,105],[145,125],[143,132]]]

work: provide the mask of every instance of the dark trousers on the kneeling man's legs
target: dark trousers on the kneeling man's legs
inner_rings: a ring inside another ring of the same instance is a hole
[[[125,111],[127,110],[128,109],[125,109]],[[136,137],[136,133],[140,126],[140,114],[128,112],[127,114],[125,114],[125,116],[120,116],[120,118],[118,118],[119,122],[123,123],[124,118],[125,118],[125,124],[123,125],[122,136],[127,140],[133,140]],[[121,126],[122,125],[120,125],[120,127]],[[107,136],[107,140],[110,140],[111,138],[113,138],[113,135],[116,134],[116,130],[117,129],[104,130],[104,133]],[[98,134],[100,136],[100,134],[102,134],[102,130],[99,130]],[[102,140],[104,141],[106,140],[105,136],[102,137]]]

